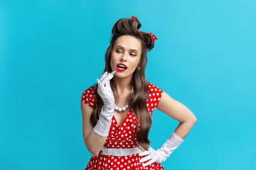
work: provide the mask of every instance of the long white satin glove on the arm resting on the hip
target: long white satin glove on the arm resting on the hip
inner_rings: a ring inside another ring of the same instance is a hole
[[[171,137],[162,145],[161,149],[154,150],[152,147],[149,147],[148,151],[140,152],[139,156],[144,156],[149,154],[148,156],[139,160],[139,162],[146,162],[146,164],[142,164],[142,166],[147,166],[154,162],[161,163],[164,162],[168,157],[170,157],[171,153],[181,145],[183,139],[178,137],[176,133],[173,132]],[[151,159],[151,160],[150,160]]]

